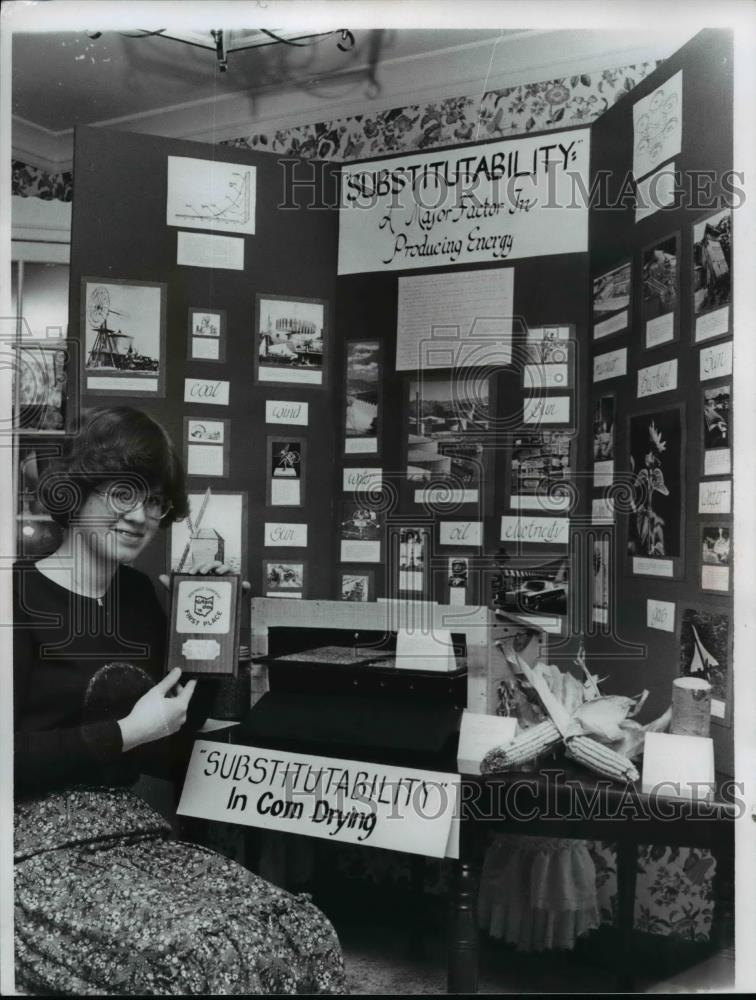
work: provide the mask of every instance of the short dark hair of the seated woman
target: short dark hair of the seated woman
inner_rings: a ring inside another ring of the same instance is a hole
[[[167,527],[189,513],[184,468],[166,431],[131,406],[92,410],[66,456],[40,478],[39,499],[50,516],[67,526],[97,487],[123,478],[136,491],[159,491],[172,506]]]

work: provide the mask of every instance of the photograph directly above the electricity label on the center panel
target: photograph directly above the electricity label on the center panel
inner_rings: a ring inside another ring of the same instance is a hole
[[[510,459],[511,504],[524,508],[544,506],[555,509],[569,506],[569,494],[560,491],[572,476],[571,437],[565,431],[530,431],[518,433]]]

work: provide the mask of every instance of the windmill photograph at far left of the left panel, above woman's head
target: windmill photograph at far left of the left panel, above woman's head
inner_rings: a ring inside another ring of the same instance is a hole
[[[165,285],[82,278],[88,392],[164,394]]]

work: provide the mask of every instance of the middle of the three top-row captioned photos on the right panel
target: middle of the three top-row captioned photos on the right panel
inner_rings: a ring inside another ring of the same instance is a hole
[[[647,350],[679,337],[680,235],[674,233],[645,247],[643,277],[643,346]]]

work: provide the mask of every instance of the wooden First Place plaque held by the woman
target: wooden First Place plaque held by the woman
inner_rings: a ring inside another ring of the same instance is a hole
[[[171,574],[166,671],[235,676],[239,663],[241,577]]]

